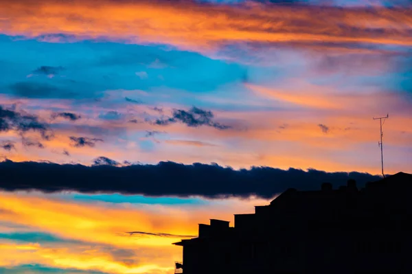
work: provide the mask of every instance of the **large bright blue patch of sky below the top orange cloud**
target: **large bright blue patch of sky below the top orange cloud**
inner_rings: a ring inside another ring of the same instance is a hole
[[[25,98],[97,98],[106,90],[156,87],[206,92],[240,81],[245,71],[233,62],[161,45],[43,43],[0,36],[0,47],[8,52],[1,60],[0,87]],[[34,71],[55,75],[40,77]],[[153,77],[141,79],[138,71]]]

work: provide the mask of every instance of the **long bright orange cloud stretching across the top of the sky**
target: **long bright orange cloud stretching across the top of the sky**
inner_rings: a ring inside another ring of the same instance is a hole
[[[67,34],[201,51],[237,42],[412,45],[410,8],[108,0],[1,1],[1,6],[1,33],[28,37]]]

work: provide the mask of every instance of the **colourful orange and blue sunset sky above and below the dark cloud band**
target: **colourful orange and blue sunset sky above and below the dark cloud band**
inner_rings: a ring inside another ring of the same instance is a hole
[[[0,0],[0,50],[1,161],[380,174],[389,113],[385,172],[412,173],[410,1]],[[270,201],[25,180],[0,274],[170,274],[199,222]]]

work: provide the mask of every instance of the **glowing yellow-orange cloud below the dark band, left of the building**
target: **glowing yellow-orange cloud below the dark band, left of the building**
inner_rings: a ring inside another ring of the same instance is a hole
[[[181,249],[176,237],[128,236],[127,231],[196,235],[197,224],[209,218],[232,220],[234,213],[253,210],[251,201],[216,201],[202,207],[186,205],[80,203],[58,195],[0,192],[0,230],[52,234],[62,241],[19,243],[0,240],[0,266],[41,264],[60,269],[105,273],[170,273]],[[221,208],[225,210],[221,210]],[[4,223],[14,231],[1,229]]]

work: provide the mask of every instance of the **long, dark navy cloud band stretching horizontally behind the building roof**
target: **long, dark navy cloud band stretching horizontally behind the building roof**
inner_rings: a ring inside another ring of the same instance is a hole
[[[104,163],[107,161],[100,161]],[[321,183],[334,187],[355,179],[358,185],[378,181],[380,176],[360,172],[323,172],[319,170],[280,170],[254,167],[233,170],[216,164],[183,165],[160,162],[157,165],[60,165],[4,161],[0,163],[0,189],[41,192],[75,191],[83,193],[143,194],[146,196],[203,196],[206,198],[271,198],[289,187],[317,190]]]

